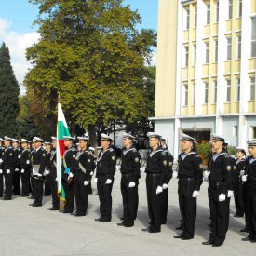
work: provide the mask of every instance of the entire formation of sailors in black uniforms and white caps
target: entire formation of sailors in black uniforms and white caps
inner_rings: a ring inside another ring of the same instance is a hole
[[[123,199],[123,217],[118,226],[132,227],[137,218],[139,194],[138,186],[141,171],[146,173],[149,226],[142,231],[161,232],[168,216],[168,186],[170,179],[178,178],[179,206],[182,222],[177,230],[182,233],[174,238],[189,240],[195,235],[196,198],[200,195],[200,186],[209,183],[210,236],[203,245],[222,246],[229,227],[230,198],[234,195],[236,213],[234,217],[245,216],[246,225],[240,230],[249,235],[242,241],[256,243],[256,140],[248,141],[246,151],[236,148],[236,159],[227,153],[227,141],[213,134],[212,154],[208,168],[203,172],[201,158],[195,152],[195,138],[182,134],[182,153],[178,157],[178,168],[172,170],[173,156],[169,153],[165,140],[154,132],[147,134],[150,152],[146,167],[141,167],[141,155],[135,147],[135,137],[123,134],[124,149],[120,165],[116,166],[116,154],[112,147],[112,138],[101,134],[101,147],[97,157],[94,148],[88,147],[88,137],[64,137],[65,153],[61,164],[61,183],[65,191],[66,203],[62,213],[76,217],[86,216],[88,194],[92,193],[91,180],[94,182],[100,201],[97,222],[112,220],[112,188],[116,169],[121,172],[121,194]],[[31,196],[32,207],[41,207],[44,196],[52,196],[52,207],[59,210],[60,201],[57,183],[56,143],[34,137],[32,143],[5,137],[0,138],[0,197],[11,200],[12,195]],[[44,144],[44,147],[43,147]],[[45,185],[45,189],[44,189]],[[21,188],[21,190],[20,190]],[[74,209],[74,200],[76,208]]]

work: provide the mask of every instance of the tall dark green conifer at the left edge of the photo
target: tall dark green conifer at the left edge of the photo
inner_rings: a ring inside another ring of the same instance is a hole
[[[10,64],[8,47],[3,43],[0,47],[0,134],[17,136],[16,118],[19,114],[19,84]]]

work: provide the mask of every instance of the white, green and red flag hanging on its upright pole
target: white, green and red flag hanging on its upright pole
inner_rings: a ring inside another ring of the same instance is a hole
[[[57,181],[58,181],[58,194],[61,194],[61,201],[65,200],[65,192],[61,185],[61,160],[65,152],[63,136],[70,136],[69,128],[65,116],[63,114],[61,103],[58,103],[58,125],[57,125]]]

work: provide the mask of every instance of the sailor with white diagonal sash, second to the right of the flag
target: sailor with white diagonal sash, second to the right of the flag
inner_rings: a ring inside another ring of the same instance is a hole
[[[80,152],[76,156],[76,168],[74,178],[74,195],[76,212],[74,216],[86,216],[88,210],[88,192],[93,174],[94,159],[88,150],[88,137],[77,137]]]

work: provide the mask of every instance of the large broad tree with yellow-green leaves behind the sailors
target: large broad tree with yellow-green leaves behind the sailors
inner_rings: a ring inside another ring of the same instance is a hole
[[[97,129],[148,113],[141,81],[156,34],[135,29],[137,11],[122,0],[30,2],[40,10],[35,23],[41,39],[27,49],[34,67],[24,82],[42,104],[35,118],[56,115],[59,93],[66,118],[88,128],[96,141]]]

